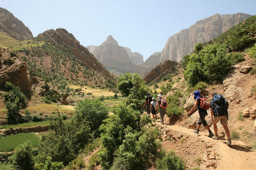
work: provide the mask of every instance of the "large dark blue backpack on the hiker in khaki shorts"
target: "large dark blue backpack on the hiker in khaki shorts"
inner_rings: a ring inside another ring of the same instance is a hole
[[[228,118],[226,99],[222,95],[213,96],[211,108],[213,109],[213,113],[215,117],[226,115]]]

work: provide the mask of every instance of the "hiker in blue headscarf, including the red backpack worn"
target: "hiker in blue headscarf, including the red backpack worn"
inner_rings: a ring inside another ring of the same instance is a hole
[[[211,132],[209,125],[207,124],[207,121],[205,117],[207,116],[207,110],[210,107],[210,104],[207,103],[207,99],[204,98],[203,96],[200,95],[200,91],[195,91],[194,92],[194,99],[195,105],[193,108],[188,112],[188,116],[191,116],[191,113],[197,108],[199,112],[199,119],[198,119],[198,126],[195,131],[193,131],[195,134],[199,133],[200,127],[203,124],[203,126],[208,130],[209,135],[208,137],[211,138],[214,136],[213,132]]]

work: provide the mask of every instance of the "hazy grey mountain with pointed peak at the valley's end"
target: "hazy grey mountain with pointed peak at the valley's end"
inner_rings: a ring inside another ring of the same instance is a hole
[[[111,35],[101,45],[87,46],[87,49],[112,73],[150,71],[148,66],[134,64],[137,61],[143,61],[143,57],[139,53],[133,53],[129,48],[118,45]],[[139,59],[136,58],[137,56]]]

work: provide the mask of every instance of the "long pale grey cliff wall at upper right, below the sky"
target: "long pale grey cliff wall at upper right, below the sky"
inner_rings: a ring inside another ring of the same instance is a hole
[[[165,60],[180,62],[184,56],[194,51],[195,44],[199,42],[207,43],[249,17],[251,15],[243,13],[231,15],[215,14],[197,21],[190,28],[181,30],[169,37],[162,52],[154,53],[144,64],[152,67]]]

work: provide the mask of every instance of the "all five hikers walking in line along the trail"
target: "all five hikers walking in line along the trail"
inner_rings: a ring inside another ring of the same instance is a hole
[[[194,99],[195,99],[195,105],[193,108],[188,112],[188,116],[191,116],[193,114],[193,111],[197,108],[199,113],[199,119],[197,122],[197,128],[193,132],[195,134],[199,133],[201,125],[203,125],[209,132],[208,137],[213,138],[214,140],[219,140],[218,136],[218,128],[217,123],[220,121],[225,133],[227,135],[227,145],[231,145],[231,139],[230,139],[230,132],[228,129],[228,109],[229,109],[229,103],[227,100],[222,96],[217,94],[216,91],[214,91],[211,95],[213,99],[209,102],[206,98],[204,98],[200,91],[195,91],[194,93]],[[150,117],[150,112],[152,114],[153,119],[157,120],[157,108],[159,107],[160,117],[161,117],[161,124],[164,124],[164,114],[166,112],[167,108],[167,101],[163,99],[162,95],[159,94],[157,97],[157,101],[154,97],[148,93],[144,106],[146,106],[146,111],[148,116]],[[205,117],[207,116],[207,110],[210,109],[211,112],[211,120],[213,121],[213,129],[214,133],[211,132],[209,125],[207,124],[207,121]]]

